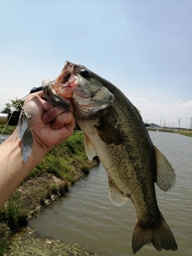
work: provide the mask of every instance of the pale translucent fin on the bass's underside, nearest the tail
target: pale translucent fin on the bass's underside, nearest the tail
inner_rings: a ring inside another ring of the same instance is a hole
[[[115,206],[123,206],[128,200],[128,197],[125,194],[122,194],[122,191],[119,190],[118,186],[116,186],[110,178],[109,178],[109,196],[110,196],[110,201],[113,202]]]

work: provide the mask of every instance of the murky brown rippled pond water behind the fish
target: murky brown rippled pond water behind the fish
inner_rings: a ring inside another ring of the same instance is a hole
[[[154,246],[142,247],[138,256],[189,256],[192,254],[192,138],[180,134],[150,132],[155,146],[166,155],[177,174],[176,186],[164,193],[156,186],[158,206],[178,243],[175,252]],[[94,167],[30,226],[38,234],[78,242],[102,256],[133,255],[131,240],[136,212],[130,200],[114,206],[108,197],[106,171],[102,164]]]

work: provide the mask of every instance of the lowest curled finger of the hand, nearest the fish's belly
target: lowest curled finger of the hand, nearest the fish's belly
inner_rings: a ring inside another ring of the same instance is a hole
[[[71,126],[71,129],[74,130],[75,121],[72,113],[62,113],[59,114],[57,118],[54,119],[54,122],[51,125],[51,128],[54,130],[61,129],[63,126]]]

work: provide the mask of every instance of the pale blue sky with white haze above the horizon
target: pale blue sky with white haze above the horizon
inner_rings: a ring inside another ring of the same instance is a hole
[[[106,78],[143,121],[190,128],[191,0],[0,0],[0,112],[66,60]]]

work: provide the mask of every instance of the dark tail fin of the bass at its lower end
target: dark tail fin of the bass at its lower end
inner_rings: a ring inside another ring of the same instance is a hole
[[[157,250],[178,250],[177,243],[174,240],[170,227],[166,224],[165,219],[160,215],[158,223],[154,226],[143,226],[139,221],[134,228],[132,238],[132,250],[135,254],[138,250],[147,243],[153,243]]]

